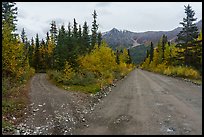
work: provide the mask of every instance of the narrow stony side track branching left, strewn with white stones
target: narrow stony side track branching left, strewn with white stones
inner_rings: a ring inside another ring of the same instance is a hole
[[[12,133],[2,131],[14,135],[72,135],[75,128],[89,126],[86,115],[92,113],[109,89],[95,95],[65,91],[48,82],[46,74],[36,74],[31,80],[31,104],[25,110],[25,118]]]

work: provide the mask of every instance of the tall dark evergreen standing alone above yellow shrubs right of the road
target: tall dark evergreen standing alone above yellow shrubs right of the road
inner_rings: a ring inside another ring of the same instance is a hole
[[[194,18],[195,12],[191,9],[191,6],[184,6],[185,7],[185,13],[186,18],[183,18],[183,22],[180,22],[181,25],[183,25],[182,30],[177,35],[177,45],[176,47],[180,49],[178,52],[178,60],[181,60],[180,62],[184,65],[192,65],[192,49],[193,43],[196,41],[196,38],[198,37],[198,28],[194,21],[197,20],[197,18]]]

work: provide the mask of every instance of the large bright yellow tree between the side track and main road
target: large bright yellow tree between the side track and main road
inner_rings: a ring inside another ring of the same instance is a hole
[[[78,62],[83,70],[95,74],[101,86],[113,82],[117,69],[116,56],[105,41],[102,41],[100,47],[95,45],[90,54],[79,57]]]

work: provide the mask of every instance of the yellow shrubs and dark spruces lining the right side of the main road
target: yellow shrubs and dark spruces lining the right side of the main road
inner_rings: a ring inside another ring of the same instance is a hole
[[[176,43],[169,42],[163,35],[156,48],[151,43],[142,69],[198,79],[202,75],[202,32],[198,32],[193,23],[196,19],[191,6],[185,6],[187,17],[184,18],[182,31],[177,35]]]

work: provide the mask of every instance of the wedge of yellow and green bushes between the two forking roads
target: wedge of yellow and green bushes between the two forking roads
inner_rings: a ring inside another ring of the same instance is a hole
[[[77,58],[78,68],[74,70],[66,61],[62,71],[49,70],[47,74],[52,81],[66,90],[96,93],[103,87],[113,84],[113,81],[127,75],[134,66],[127,63],[127,50],[117,56],[102,41],[100,47],[95,45],[93,50]]]

